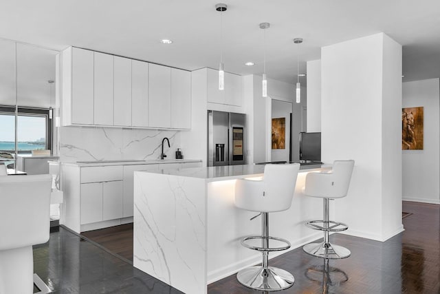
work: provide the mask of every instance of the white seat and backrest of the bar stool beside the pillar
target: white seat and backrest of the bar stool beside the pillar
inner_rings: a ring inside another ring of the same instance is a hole
[[[354,165],[354,160],[335,160],[331,171],[307,174],[304,193],[320,198],[347,196]]]

